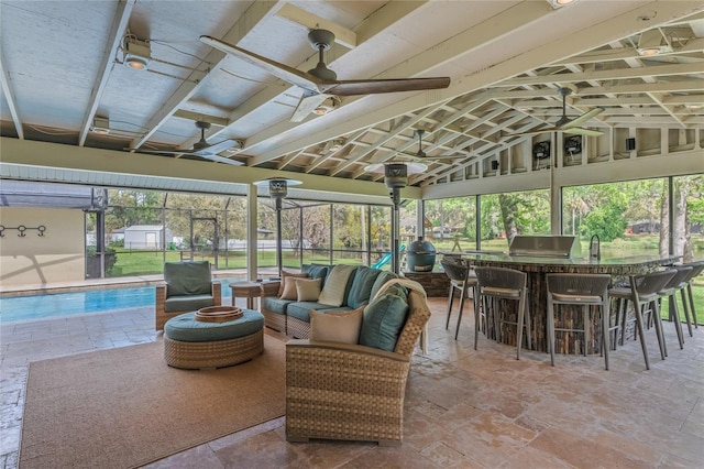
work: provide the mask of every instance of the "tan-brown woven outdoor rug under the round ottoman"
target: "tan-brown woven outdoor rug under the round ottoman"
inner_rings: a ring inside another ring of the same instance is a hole
[[[219,370],[166,366],[162,341],[30,363],[21,468],[130,468],[285,414],[285,342]]]

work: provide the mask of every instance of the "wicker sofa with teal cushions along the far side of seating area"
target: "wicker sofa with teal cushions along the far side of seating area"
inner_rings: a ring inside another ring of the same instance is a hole
[[[321,290],[326,290],[333,282],[334,265],[304,265],[300,273],[284,272],[282,281],[262,283],[261,310],[264,315],[264,325],[271,329],[283,332],[297,339],[307,339],[310,330],[310,309],[326,312],[345,312],[356,309],[366,303],[381,286],[398,275],[389,271],[381,271],[366,265],[352,266],[344,285],[342,304],[326,304],[324,299],[316,302],[298,302],[296,299],[283,299],[280,297],[282,282],[287,276],[306,276],[320,279]],[[322,296],[321,296],[322,298]]]

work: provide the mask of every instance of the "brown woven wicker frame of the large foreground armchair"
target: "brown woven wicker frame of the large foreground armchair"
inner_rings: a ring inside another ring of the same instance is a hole
[[[420,293],[411,291],[408,304],[408,319],[393,352],[310,340],[286,345],[286,439],[400,445],[410,358],[430,318]]]

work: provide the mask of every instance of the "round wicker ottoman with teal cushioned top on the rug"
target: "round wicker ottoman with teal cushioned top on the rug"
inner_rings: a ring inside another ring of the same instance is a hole
[[[252,360],[264,351],[264,316],[244,309],[224,323],[196,320],[195,312],[175,316],[164,325],[164,359],[169,367],[188,370],[222,368]]]

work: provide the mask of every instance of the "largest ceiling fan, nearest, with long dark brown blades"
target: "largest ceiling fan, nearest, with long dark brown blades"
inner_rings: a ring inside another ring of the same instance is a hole
[[[301,72],[215,37],[200,36],[204,43],[262,67],[284,81],[302,88],[304,94],[290,118],[292,122],[300,122],[328,98],[440,89],[450,86],[449,77],[338,80],[337,74],[326,66],[322,57],[322,53],[334,42],[334,34],[328,30],[311,30],[308,33],[308,40],[318,51],[318,65],[308,72]]]

